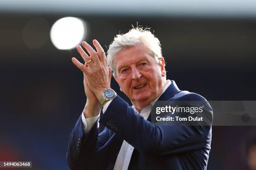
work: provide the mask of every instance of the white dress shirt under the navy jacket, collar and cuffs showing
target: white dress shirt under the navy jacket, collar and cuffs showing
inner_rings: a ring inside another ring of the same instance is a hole
[[[164,90],[161,94],[164,93],[164,91],[166,91],[166,89],[172,84],[172,82],[170,80],[167,80],[167,84],[164,86]],[[145,120],[148,119],[148,116],[151,112],[151,110],[153,109],[153,106],[155,104],[155,102],[159,99],[159,97],[161,96],[161,94],[154,100],[151,102],[151,104],[149,104],[148,106],[144,107],[141,110],[141,113],[139,113],[135,107],[132,106],[132,108],[134,109],[134,111],[138,114],[140,114]],[[109,104],[111,103],[112,100],[108,101],[105,106],[102,109],[103,114],[105,113],[105,111],[108,109]],[[98,120],[98,118],[100,117],[100,114],[98,114],[96,117],[92,117],[92,118],[85,118],[84,114],[82,114],[82,124],[83,124],[83,129],[84,129],[84,133],[87,133],[93,126],[93,124]],[[99,127],[99,122],[97,122],[97,126]],[[114,166],[114,170],[127,170],[130,160],[131,160],[131,156],[133,154],[133,149],[134,147],[132,145],[130,145],[128,142],[126,142],[125,140],[123,140],[123,144],[120,148],[120,151],[118,153],[118,157],[115,161],[115,166]]]

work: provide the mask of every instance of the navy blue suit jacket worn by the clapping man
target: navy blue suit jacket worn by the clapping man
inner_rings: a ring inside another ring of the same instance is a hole
[[[206,101],[202,96],[182,91],[174,81],[159,101]],[[208,103],[208,102],[207,102]],[[205,107],[210,113],[212,108]],[[99,122],[84,134],[79,117],[69,139],[67,163],[72,170],[113,170],[123,140],[134,147],[129,170],[206,170],[211,144],[211,126],[159,126],[134,112],[116,96]]]

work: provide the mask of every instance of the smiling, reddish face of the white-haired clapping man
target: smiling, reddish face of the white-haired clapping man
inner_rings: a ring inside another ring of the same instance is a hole
[[[161,58],[159,65],[148,49],[138,44],[117,53],[114,62],[114,78],[133,105],[149,104],[161,94],[165,76],[164,58]]]

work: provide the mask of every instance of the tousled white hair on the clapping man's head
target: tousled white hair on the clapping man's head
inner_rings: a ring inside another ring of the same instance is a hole
[[[122,51],[131,46],[136,46],[137,44],[142,43],[151,54],[152,57],[156,59],[156,62],[161,64],[161,44],[158,38],[150,32],[149,28],[132,28],[128,33],[118,34],[114,41],[110,44],[107,59],[108,65],[113,70],[113,76],[116,77],[116,67],[115,67],[115,56],[119,51]]]

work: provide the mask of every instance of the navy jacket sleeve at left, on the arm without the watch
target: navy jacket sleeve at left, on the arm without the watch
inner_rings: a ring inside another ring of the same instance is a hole
[[[92,159],[98,148],[102,147],[109,139],[109,131],[105,128],[99,134],[97,122],[89,132],[84,134],[82,118],[79,117],[74,129],[71,132],[67,150],[67,164],[71,170],[89,169]]]

